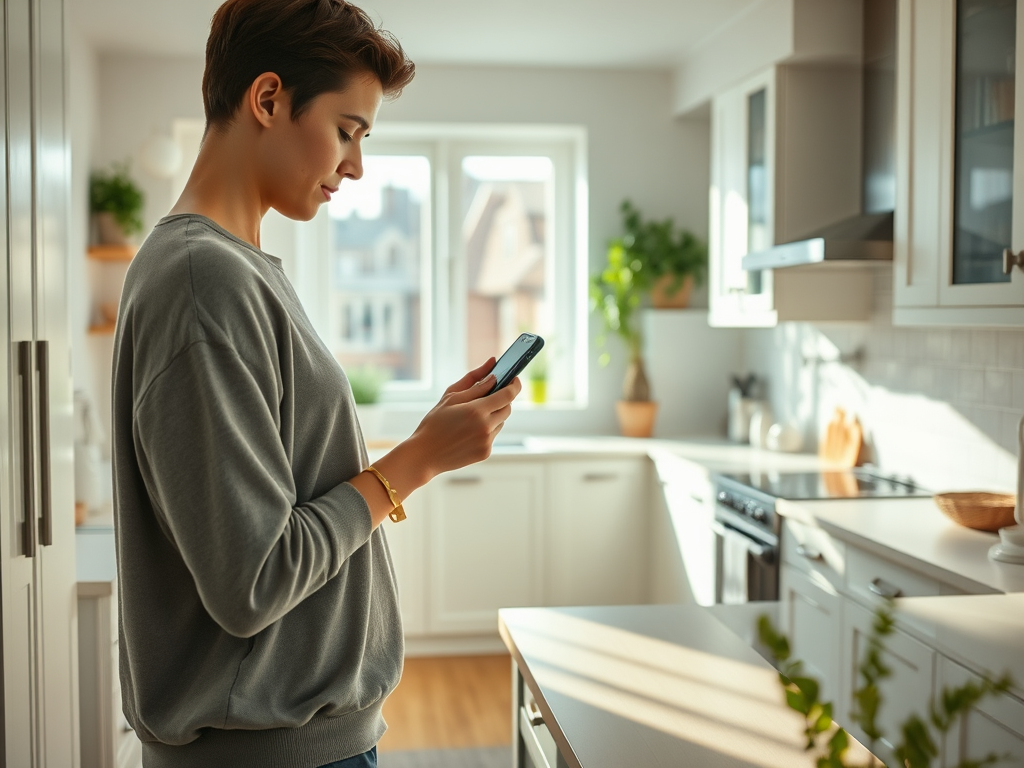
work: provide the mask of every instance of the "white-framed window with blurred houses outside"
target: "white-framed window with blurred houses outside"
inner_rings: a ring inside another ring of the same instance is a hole
[[[385,400],[425,400],[530,331],[550,399],[584,402],[582,131],[378,126],[362,146],[362,179],[311,239],[341,365],[385,371]]]

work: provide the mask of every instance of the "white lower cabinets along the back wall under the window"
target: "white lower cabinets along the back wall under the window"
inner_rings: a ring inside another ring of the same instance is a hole
[[[499,608],[645,602],[651,483],[641,456],[495,456],[434,478],[384,523],[413,652],[497,640]]]

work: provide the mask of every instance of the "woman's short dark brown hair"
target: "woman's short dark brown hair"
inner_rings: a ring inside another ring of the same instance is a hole
[[[265,72],[281,78],[297,120],[316,96],[344,90],[361,74],[395,98],[416,65],[393,35],[345,0],[227,0],[213,14],[206,44],[207,129],[229,123]]]

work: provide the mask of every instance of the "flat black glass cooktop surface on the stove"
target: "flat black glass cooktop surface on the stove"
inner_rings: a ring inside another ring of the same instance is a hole
[[[885,475],[865,469],[822,472],[723,472],[719,477],[724,478],[734,489],[753,488],[765,496],[793,501],[931,496],[910,477]]]

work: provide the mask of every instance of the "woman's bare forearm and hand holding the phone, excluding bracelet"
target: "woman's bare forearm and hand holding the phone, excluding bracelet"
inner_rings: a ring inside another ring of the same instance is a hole
[[[431,478],[490,456],[495,437],[512,413],[512,400],[522,390],[519,379],[487,394],[495,386],[490,357],[444,390],[440,402],[423,417],[412,436],[374,463],[401,500]],[[351,480],[370,506],[374,526],[391,511],[391,503],[376,477],[364,472]]]

